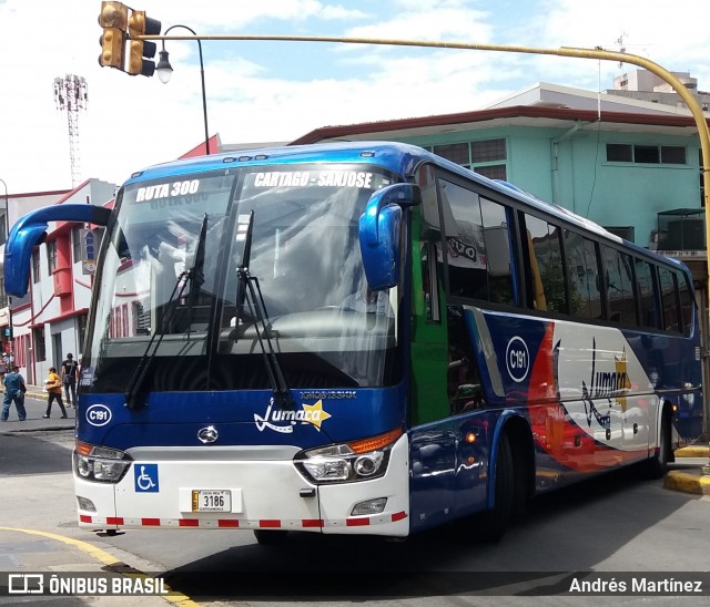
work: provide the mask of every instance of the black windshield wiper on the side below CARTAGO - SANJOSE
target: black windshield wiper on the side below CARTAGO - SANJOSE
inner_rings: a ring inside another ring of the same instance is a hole
[[[251,276],[248,270],[250,258],[252,254],[252,232],[254,228],[254,212],[248,215],[240,215],[236,226],[236,239],[244,243],[242,249],[242,260],[236,270],[239,278],[236,290],[236,331],[239,333],[239,323],[244,312],[244,302],[248,306],[248,313],[254,319],[254,330],[256,339],[264,357],[266,374],[273,392],[274,404],[280,409],[292,409],[293,399],[288,383],[281,368],[278,356],[274,350],[271,340],[271,328],[267,325],[268,313],[264,304],[264,296],[258,285],[258,278]]]

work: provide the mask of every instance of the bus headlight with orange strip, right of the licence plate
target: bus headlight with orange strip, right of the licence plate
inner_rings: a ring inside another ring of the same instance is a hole
[[[402,430],[371,439],[302,451],[294,457],[296,469],[315,484],[351,483],[378,479],[387,472],[389,452]]]

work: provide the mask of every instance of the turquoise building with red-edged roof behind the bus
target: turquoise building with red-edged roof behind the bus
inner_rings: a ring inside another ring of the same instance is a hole
[[[700,140],[684,107],[540,83],[484,110],[324,126],[293,144],[342,140],[427,147],[679,257],[706,285]]]

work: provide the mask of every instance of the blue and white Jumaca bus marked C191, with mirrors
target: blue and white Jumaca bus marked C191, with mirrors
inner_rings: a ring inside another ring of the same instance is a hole
[[[688,268],[416,146],[140,171],[104,226],[73,474],[85,528],[497,538],[536,494],[700,433]]]

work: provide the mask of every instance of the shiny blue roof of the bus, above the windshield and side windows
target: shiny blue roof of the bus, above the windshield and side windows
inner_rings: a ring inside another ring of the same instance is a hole
[[[221,154],[193,156],[190,158],[153,165],[133,173],[124,185],[148,179],[160,179],[168,176],[203,173],[235,166],[287,165],[326,162],[375,164],[403,177],[414,175],[416,168],[422,163],[434,163],[452,173],[460,175],[466,179],[477,182],[489,189],[497,191],[505,196],[515,198],[529,207],[537,208],[545,214],[557,217],[568,224],[576,225],[584,230],[602,236],[617,244],[623,243],[625,246],[635,249],[637,253],[645,254],[657,259],[662,258],[668,260],[671,265],[684,267],[683,264],[680,264],[676,259],[660,256],[639,245],[623,240],[595,222],[581,217],[565,207],[538,198],[513,184],[503,181],[489,179],[452,161],[436,156],[423,147],[406,143],[357,141],[236,150],[223,152]]]

